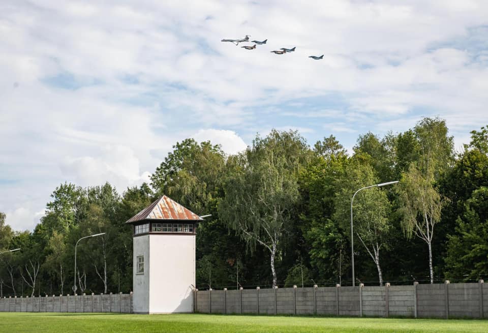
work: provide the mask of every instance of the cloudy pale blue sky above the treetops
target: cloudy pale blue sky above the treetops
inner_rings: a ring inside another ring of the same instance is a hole
[[[221,42],[245,35],[268,41]],[[461,149],[487,91],[485,0],[3,0],[0,211],[32,230],[59,184],[121,193],[189,137],[235,154],[292,129],[351,150],[438,116]]]

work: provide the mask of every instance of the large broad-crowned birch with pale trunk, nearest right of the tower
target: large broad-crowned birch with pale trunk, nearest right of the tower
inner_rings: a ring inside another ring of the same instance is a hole
[[[297,175],[307,160],[307,144],[296,132],[272,130],[266,138],[257,137],[237,158],[219,206],[219,216],[250,249],[259,244],[269,251],[273,287],[275,258],[300,197]]]

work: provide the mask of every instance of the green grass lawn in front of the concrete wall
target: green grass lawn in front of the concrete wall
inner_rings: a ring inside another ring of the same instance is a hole
[[[487,320],[0,312],[0,332],[488,332]]]

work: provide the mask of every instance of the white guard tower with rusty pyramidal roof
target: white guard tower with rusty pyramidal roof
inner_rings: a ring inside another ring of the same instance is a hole
[[[126,222],[134,231],[134,313],[192,312],[199,221],[163,195]]]

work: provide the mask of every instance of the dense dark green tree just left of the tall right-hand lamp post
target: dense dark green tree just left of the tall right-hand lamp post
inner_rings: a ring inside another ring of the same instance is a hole
[[[339,145],[333,137],[317,142],[315,152],[319,155],[299,174],[304,264],[310,265],[316,281],[331,283],[341,283],[349,266],[347,236],[339,223],[332,219],[336,185],[347,165],[346,152]],[[330,148],[318,149],[323,146]]]

